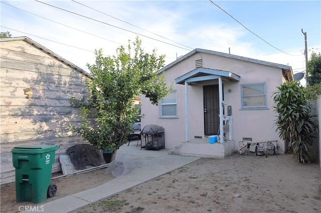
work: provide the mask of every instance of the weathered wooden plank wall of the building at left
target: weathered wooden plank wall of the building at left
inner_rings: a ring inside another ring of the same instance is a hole
[[[86,95],[86,73],[24,40],[2,41],[0,47],[1,184],[15,181],[11,150],[19,145],[59,145],[52,171],[61,171],[59,155],[85,143],[68,125],[79,121],[70,98]]]

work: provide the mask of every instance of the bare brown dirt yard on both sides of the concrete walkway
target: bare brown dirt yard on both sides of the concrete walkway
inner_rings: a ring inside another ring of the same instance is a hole
[[[105,169],[53,179],[60,198],[114,178]],[[321,212],[317,163],[288,154],[202,158],[73,212]],[[1,212],[19,212],[15,185],[1,187]]]

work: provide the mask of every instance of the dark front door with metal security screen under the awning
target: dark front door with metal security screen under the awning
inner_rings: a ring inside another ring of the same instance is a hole
[[[203,86],[204,133],[217,134],[220,126],[219,85]]]

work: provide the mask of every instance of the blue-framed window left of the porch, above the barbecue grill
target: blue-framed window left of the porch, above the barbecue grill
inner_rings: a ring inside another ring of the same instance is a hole
[[[176,90],[171,90],[166,95],[160,104],[160,115],[161,117],[177,117],[177,94]]]

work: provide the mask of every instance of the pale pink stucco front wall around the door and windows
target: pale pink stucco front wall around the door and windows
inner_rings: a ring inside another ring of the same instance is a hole
[[[238,147],[238,141],[243,137],[252,137],[253,140],[277,139],[279,153],[284,152],[284,142],[280,141],[275,132],[272,93],[276,86],[282,83],[282,70],[280,68],[242,61],[234,58],[226,58],[208,53],[196,53],[189,58],[177,63],[165,71],[168,85],[175,78],[195,69],[195,60],[203,59],[203,67],[231,71],[241,76],[239,82],[223,81],[224,100],[232,105],[233,115],[233,138]],[[241,84],[243,83],[267,83],[267,104],[269,109],[264,110],[241,110]],[[189,85],[189,137],[204,135],[204,107],[203,85],[218,84],[218,80],[204,81],[201,85]],[[174,83],[178,95],[178,118],[159,119],[159,106],[152,106],[142,96],[142,126],[157,124],[165,128],[165,141],[167,148],[174,148],[185,141],[185,86]],[[231,92],[228,92],[231,89]],[[227,105],[225,105],[227,107]],[[227,112],[227,108],[225,108]]]

